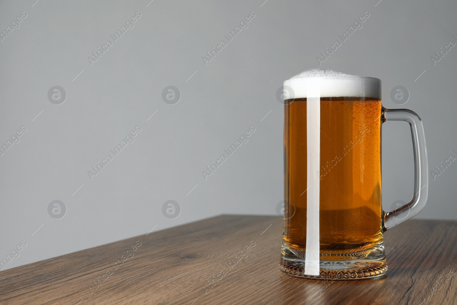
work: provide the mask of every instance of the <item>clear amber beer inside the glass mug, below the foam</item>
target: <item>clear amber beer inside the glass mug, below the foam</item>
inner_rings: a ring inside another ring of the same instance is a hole
[[[284,246],[297,251],[307,238],[306,106],[306,98],[285,106],[285,202],[295,213],[285,219]],[[383,241],[380,113],[377,98],[320,98],[321,259],[364,257]]]

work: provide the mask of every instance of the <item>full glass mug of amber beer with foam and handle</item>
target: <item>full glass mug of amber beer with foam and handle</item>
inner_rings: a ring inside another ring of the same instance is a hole
[[[387,272],[383,233],[418,214],[427,200],[419,116],[384,108],[381,80],[372,77],[307,70],[286,80],[283,92],[280,269],[304,278],[382,276]],[[409,123],[415,168],[413,198],[391,212],[383,211],[381,192],[381,125],[386,121]]]

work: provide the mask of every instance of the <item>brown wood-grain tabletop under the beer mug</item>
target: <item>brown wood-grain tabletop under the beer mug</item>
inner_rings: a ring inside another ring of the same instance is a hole
[[[457,303],[457,221],[386,232],[389,271],[371,280],[286,275],[281,235],[281,218],[241,215],[151,232],[2,271],[0,304]]]

